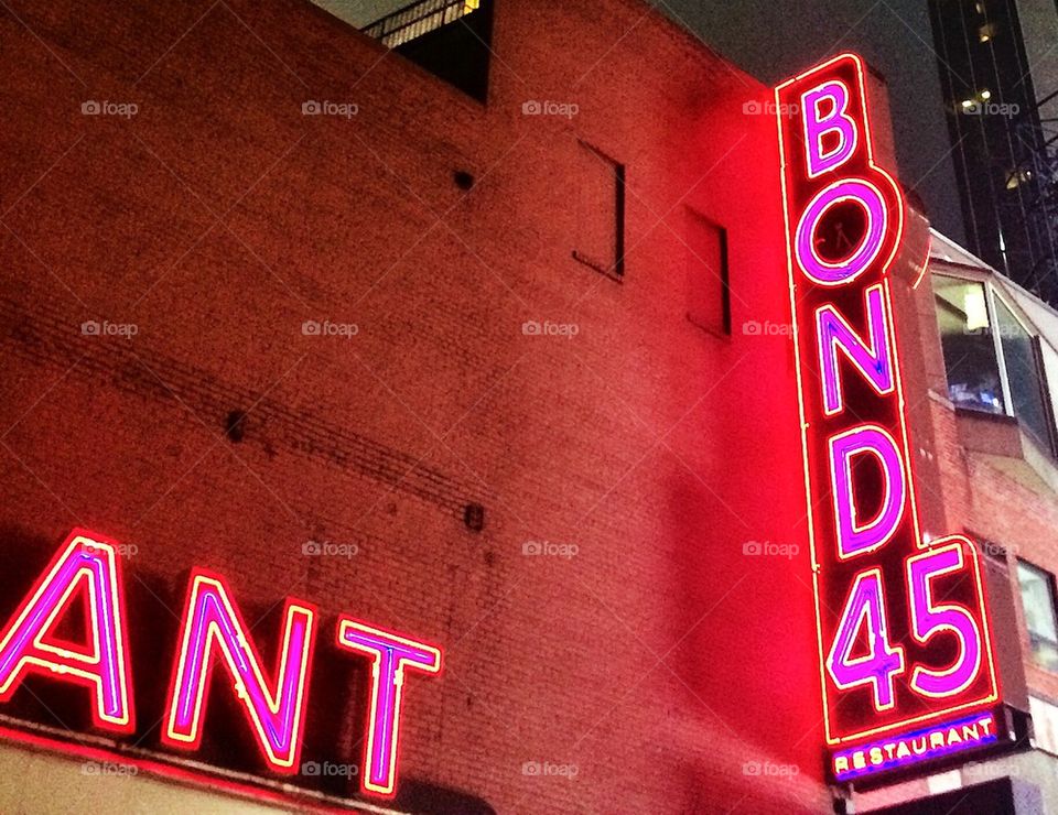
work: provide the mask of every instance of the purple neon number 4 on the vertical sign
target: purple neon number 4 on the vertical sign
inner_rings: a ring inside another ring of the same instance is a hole
[[[864,626],[867,653],[854,658],[852,651]],[[863,572],[856,576],[849,594],[834,644],[827,656],[827,670],[842,691],[870,685],[875,708],[886,710],[896,702],[894,681],[904,673],[904,649],[889,645],[882,572],[876,568]]]

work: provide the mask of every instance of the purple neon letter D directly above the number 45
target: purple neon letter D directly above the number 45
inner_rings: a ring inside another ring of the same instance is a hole
[[[830,472],[838,521],[838,555],[846,558],[872,552],[896,532],[907,498],[904,459],[893,437],[881,427],[863,425],[830,439]],[[877,515],[867,523],[857,517],[853,489],[853,460],[872,455],[882,465],[885,497]]]

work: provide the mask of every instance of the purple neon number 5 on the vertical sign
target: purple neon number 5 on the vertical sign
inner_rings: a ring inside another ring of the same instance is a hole
[[[911,605],[911,633],[918,642],[948,631],[959,638],[959,659],[943,671],[917,665],[911,688],[922,696],[953,696],[965,691],[981,670],[981,631],[973,616],[962,606],[933,605],[932,580],[960,572],[964,565],[959,543],[911,557],[907,578]]]

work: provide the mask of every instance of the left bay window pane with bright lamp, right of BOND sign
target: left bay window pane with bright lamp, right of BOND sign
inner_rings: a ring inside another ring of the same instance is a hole
[[[958,408],[1006,413],[984,284],[937,274],[933,293],[949,398]]]

